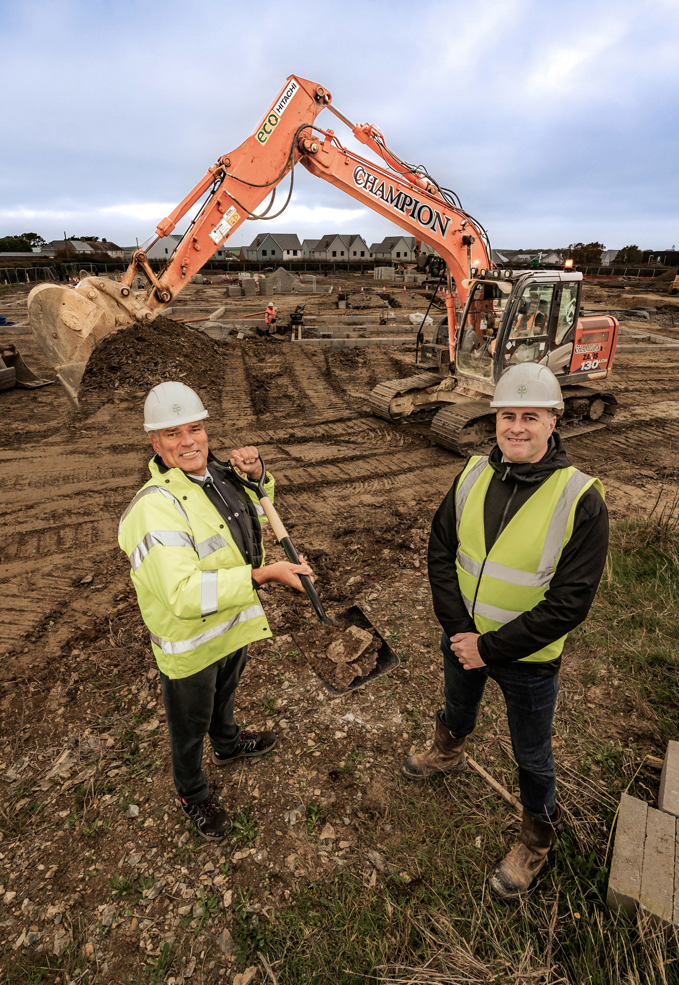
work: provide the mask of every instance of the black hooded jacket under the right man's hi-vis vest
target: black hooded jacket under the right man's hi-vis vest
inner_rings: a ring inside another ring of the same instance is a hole
[[[486,552],[532,493],[557,469],[569,462],[561,438],[554,431],[539,462],[503,462],[496,445],[490,453],[495,475],[483,504]],[[455,496],[458,477],[439,506],[429,537],[429,582],[434,612],[446,634],[476,632],[458,584],[455,557],[458,535]],[[486,664],[510,664],[542,649],[581,624],[589,612],[608,551],[608,513],[600,494],[589,488],[576,509],[573,534],[564,548],[544,599],[511,623],[483,633],[478,652]],[[561,657],[545,663],[521,664],[527,673],[551,676]]]

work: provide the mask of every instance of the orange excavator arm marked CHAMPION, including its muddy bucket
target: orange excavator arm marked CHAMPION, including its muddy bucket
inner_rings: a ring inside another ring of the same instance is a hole
[[[316,127],[316,117],[326,107],[384,164],[348,151],[333,130]],[[31,329],[76,406],[80,380],[96,344],[132,321],[153,321],[246,220],[279,215],[291,197],[293,168],[300,162],[312,174],[341,188],[440,253],[448,265],[449,338],[454,346],[457,318],[452,279],[463,302],[465,280],[476,270],[490,268],[484,230],[454,203],[445,189],[389,151],[376,127],[367,123],[354,126],[332,106],[332,96],[326,89],[290,76],[255,132],[240,147],[220,157],[177,208],[158,223],[154,242],[174,230],[207,195],[157,276],[145,250],[140,249],[133,254],[120,283],[88,277],[75,291],[54,285],[39,285],[31,291]],[[277,212],[276,189],[287,174],[287,199]],[[268,196],[268,206],[258,214]],[[135,275],[140,272],[149,281],[143,297],[132,291]]]

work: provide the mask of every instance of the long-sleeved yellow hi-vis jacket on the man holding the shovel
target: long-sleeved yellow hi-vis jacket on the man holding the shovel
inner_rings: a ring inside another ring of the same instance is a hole
[[[118,544],[132,565],[158,668],[185,678],[272,632],[252,567],[208,496],[181,469],[161,473],[152,459],[149,471],[120,519]],[[265,489],[273,498],[269,476]],[[266,519],[255,493],[244,492]]]

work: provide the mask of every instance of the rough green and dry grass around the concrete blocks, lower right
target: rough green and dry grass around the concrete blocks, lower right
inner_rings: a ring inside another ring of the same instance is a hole
[[[671,517],[636,518],[613,528],[601,587],[580,636],[592,653],[582,683],[590,687],[612,668],[621,694],[632,695],[658,737],[676,738],[679,533]],[[432,985],[679,982],[676,933],[664,935],[640,917],[605,906],[611,804],[630,783],[651,801],[656,778],[637,768],[641,756],[634,746],[622,748],[595,728],[594,722],[578,734],[583,784],[577,778],[571,784],[578,794],[569,804],[574,825],[556,841],[538,883],[520,902],[498,899],[486,886],[517,825],[503,829],[505,806],[478,777],[467,773],[421,787],[400,782],[387,807],[396,820],[393,838],[375,845],[389,866],[377,872],[374,885],[367,860],[340,869],[301,888],[267,924],[248,912],[243,898],[234,927],[239,958],[255,963],[258,951],[266,954],[279,985],[405,982],[410,974]],[[352,752],[344,770],[359,761]],[[605,803],[586,787],[586,777],[607,793]],[[364,834],[370,838],[370,828]]]

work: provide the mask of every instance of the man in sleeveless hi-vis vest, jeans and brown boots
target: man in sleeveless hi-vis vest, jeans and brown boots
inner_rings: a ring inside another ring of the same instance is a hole
[[[409,779],[465,768],[490,677],[507,705],[524,807],[519,842],[490,885],[518,896],[562,829],[552,720],[567,633],[586,619],[608,550],[598,479],[569,462],[554,430],[561,388],[546,366],[512,366],[493,401],[497,445],[472,455],[439,507],[429,540],[429,581],[443,626],[446,706],[434,742],[408,756]]]

